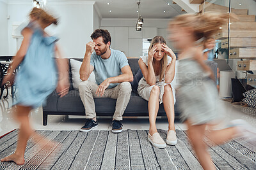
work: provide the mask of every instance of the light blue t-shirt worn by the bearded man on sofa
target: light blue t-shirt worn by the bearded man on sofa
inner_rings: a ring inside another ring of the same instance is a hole
[[[122,74],[122,67],[129,66],[128,60],[123,52],[111,49],[111,55],[108,59],[102,59],[95,52],[91,56],[91,65],[94,67],[95,80],[98,85],[109,77],[115,77]],[[118,83],[111,83],[108,89],[116,87]]]

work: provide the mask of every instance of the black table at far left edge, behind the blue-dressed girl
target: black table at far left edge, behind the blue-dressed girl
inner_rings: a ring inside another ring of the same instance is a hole
[[[13,56],[0,56],[0,86],[1,86],[1,94],[0,94],[0,99],[3,95],[4,90],[6,90],[6,96],[4,96],[4,99],[8,96],[8,84],[2,85],[3,77],[6,75],[8,71],[8,67],[10,64],[12,64],[12,57]],[[13,85],[12,85],[12,97],[14,95],[14,90],[13,90]]]

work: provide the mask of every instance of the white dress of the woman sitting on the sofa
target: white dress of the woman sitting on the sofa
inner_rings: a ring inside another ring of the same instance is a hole
[[[148,56],[143,56],[141,57],[141,59],[143,60],[143,62],[146,64],[146,66],[148,66]],[[172,57],[168,56],[168,64],[167,66],[172,62]],[[159,92],[159,104],[163,103],[163,95],[164,95],[164,86],[165,85],[171,85],[172,87],[172,93],[173,93],[173,99],[174,99],[174,104],[176,103],[176,99],[175,99],[175,89],[172,86],[172,83],[165,83],[164,78],[162,81],[159,80],[160,76],[157,75],[156,76],[156,86],[159,87],[160,92]],[[148,85],[147,81],[145,80],[145,78],[141,78],[141,80],[139,81],[139,85],[138,85],[138,94],[140,97],[142,97],[143,99],[145,99],[146,101],[148,101],[149,96],[150,96],[150,92],[153,89],[155,85]]]

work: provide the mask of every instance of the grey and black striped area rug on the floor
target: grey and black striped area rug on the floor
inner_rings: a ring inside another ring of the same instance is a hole
[[[152,147],[147,131],[37,132],[56,144],[45,149],[29,139],[25,164],[1,162],[0,169],[202,169],[184,131],[177,130],[177,145],[165,149]],[[0,139],[0,158],[14,152],[17,133]],[[166,131],[159,134],[166,139]],[[256,147],[242,139],[210,147],[209,153],[218,169],[256,169]]]

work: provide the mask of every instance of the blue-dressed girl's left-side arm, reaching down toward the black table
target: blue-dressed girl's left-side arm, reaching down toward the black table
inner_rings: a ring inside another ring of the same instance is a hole
[[[22,40],[20,49],[18,50],[16,55],[13,57],[12,64],[10,64],[10,66],[8,67],[8,73],[6,74],[6,76],[4,76],[2,84],[6,83],[7,81],[11,81],[11,83],[13,83],[13,81],[14,81],[13,72],[19,66],[20,62],[22,62],[22,60],[24,59],[24,57],[27,53],[33,31],[29,28],[25,28],[25,29],[23,29],[23,31],[21,33],[22,33],[22,36],[24,37],[24,39]]]

